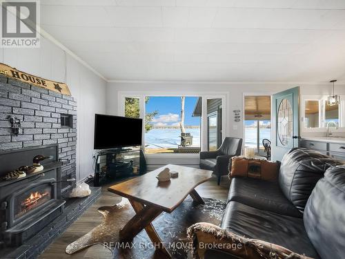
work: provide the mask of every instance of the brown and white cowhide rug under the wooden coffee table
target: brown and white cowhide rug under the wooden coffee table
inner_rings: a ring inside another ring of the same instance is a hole
[[[172,213],[161,213],[152,222],[159,237],[164,242],[172,258],[188,258],[190,244],[186,229],[196,222],[209,222],[219,225],[226,207],[226,202],[204,198],[205,204],[195,204],[193,200],[185,200]],[[103,222],[86,235],[66,247],[66,253],[72,254],[102,244],[112,251],[113,258],[164,258],[155,250],[146,231],[141,231],[132,242],[119,242],[119,230],[135,215],[127,199],[112,207],[100,207]]]

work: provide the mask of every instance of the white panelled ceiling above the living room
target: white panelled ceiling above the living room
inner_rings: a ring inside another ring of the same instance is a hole
[[[41,0],[41,27],[109,80],[345,79],[345,0]]]

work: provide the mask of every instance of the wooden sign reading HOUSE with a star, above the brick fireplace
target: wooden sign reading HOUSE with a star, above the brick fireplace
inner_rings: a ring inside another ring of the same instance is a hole
[[[63,95],[70,96],[70,89],[65,83],[51,81],[48,79],[43,79],[41,77],[30,75],[28,73],[22,72],[20,70],[17,70],[16,68],[12,68],[12,66],[8,66],[3,63],[0,63],[0,74],[28,84],[32,84],[33,86],[38,86],[40,88],[44,88],[57,93],[61,93]]]

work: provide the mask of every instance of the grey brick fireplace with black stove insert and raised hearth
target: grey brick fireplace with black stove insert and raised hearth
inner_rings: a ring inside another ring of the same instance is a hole
[[[11,121],[21,120],[19,134]],[[57,236],[97,200],[98,187],[85,198],[68,199],[76,178],[75,98],[0,75],[0,252],[5,258],[37,258]],[[36,155],[43,171],[2,180]]]

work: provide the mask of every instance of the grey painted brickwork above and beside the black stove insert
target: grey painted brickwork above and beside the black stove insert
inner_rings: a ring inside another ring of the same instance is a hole
[[[61,113],[73,116],[72,128],[61,128]],[[22,131],[18,136],[11,135],[9,115],[23,121]],[[62,179],[75,178],[75,98],[0,75],[0,151],[48,144],[59,145],[59,158],[65,163],[61,169]],[[63,183],[64,190],[69,187],[68,183]]]

